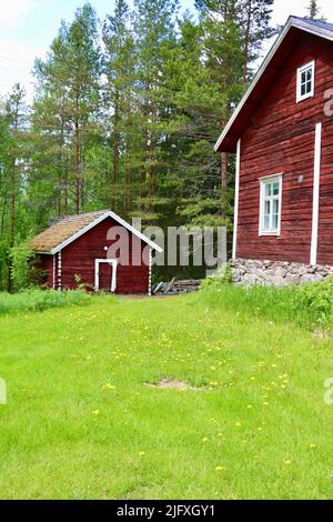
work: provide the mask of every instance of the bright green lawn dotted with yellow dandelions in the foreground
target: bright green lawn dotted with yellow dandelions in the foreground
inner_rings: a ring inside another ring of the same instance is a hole
[[[332,347],[200,294],[2,315],[0,498],[332,499]]]

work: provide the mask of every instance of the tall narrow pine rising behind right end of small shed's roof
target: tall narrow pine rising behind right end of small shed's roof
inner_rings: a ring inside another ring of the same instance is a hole
[[[165,111],[165,70],[168,57],[175,47],[178,0],[135,0],[134,30],[138,49],[138,110],[141,121],[141,197],[148,197],[152,210],[157,172],[160,163],[161,137]],[[150,218],[153,214],[150,212]]]

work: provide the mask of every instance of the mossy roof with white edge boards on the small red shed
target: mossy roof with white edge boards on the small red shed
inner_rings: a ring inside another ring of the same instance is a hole
[[[162,252],[157,243],[110,210],[62,218],[30,241],[30,248],[38,253],[54,254],[108,218],[117,221],[153,250]]]

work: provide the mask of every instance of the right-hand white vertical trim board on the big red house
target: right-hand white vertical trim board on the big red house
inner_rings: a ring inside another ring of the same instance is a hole
[[[312,235],[311,235],[311,253],[310,253],[310,264],[312,264],[313,267],[316,264],[316,254],[317,254],[321,155],[322,155],[322,123],[317,123],[315,126],[315,141],[314,141]]]

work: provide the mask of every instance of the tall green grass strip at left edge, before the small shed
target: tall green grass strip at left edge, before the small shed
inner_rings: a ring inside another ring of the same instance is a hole
[[[0,314],[40,312],[51,308],[82,305],[91,302],[91,297],[79,291],[26,290],[10,294],[0,293]]]

